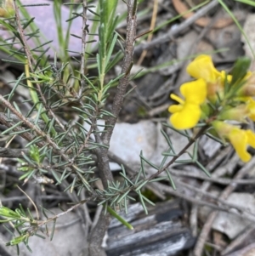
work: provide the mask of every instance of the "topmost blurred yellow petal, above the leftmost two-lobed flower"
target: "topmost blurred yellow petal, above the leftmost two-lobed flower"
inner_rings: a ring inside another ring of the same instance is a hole
[[[203,78],[206,82],[217,82],[221,73],[214,67],[212,57],[200,55],[187,66],[187,72],[191,77]]]

